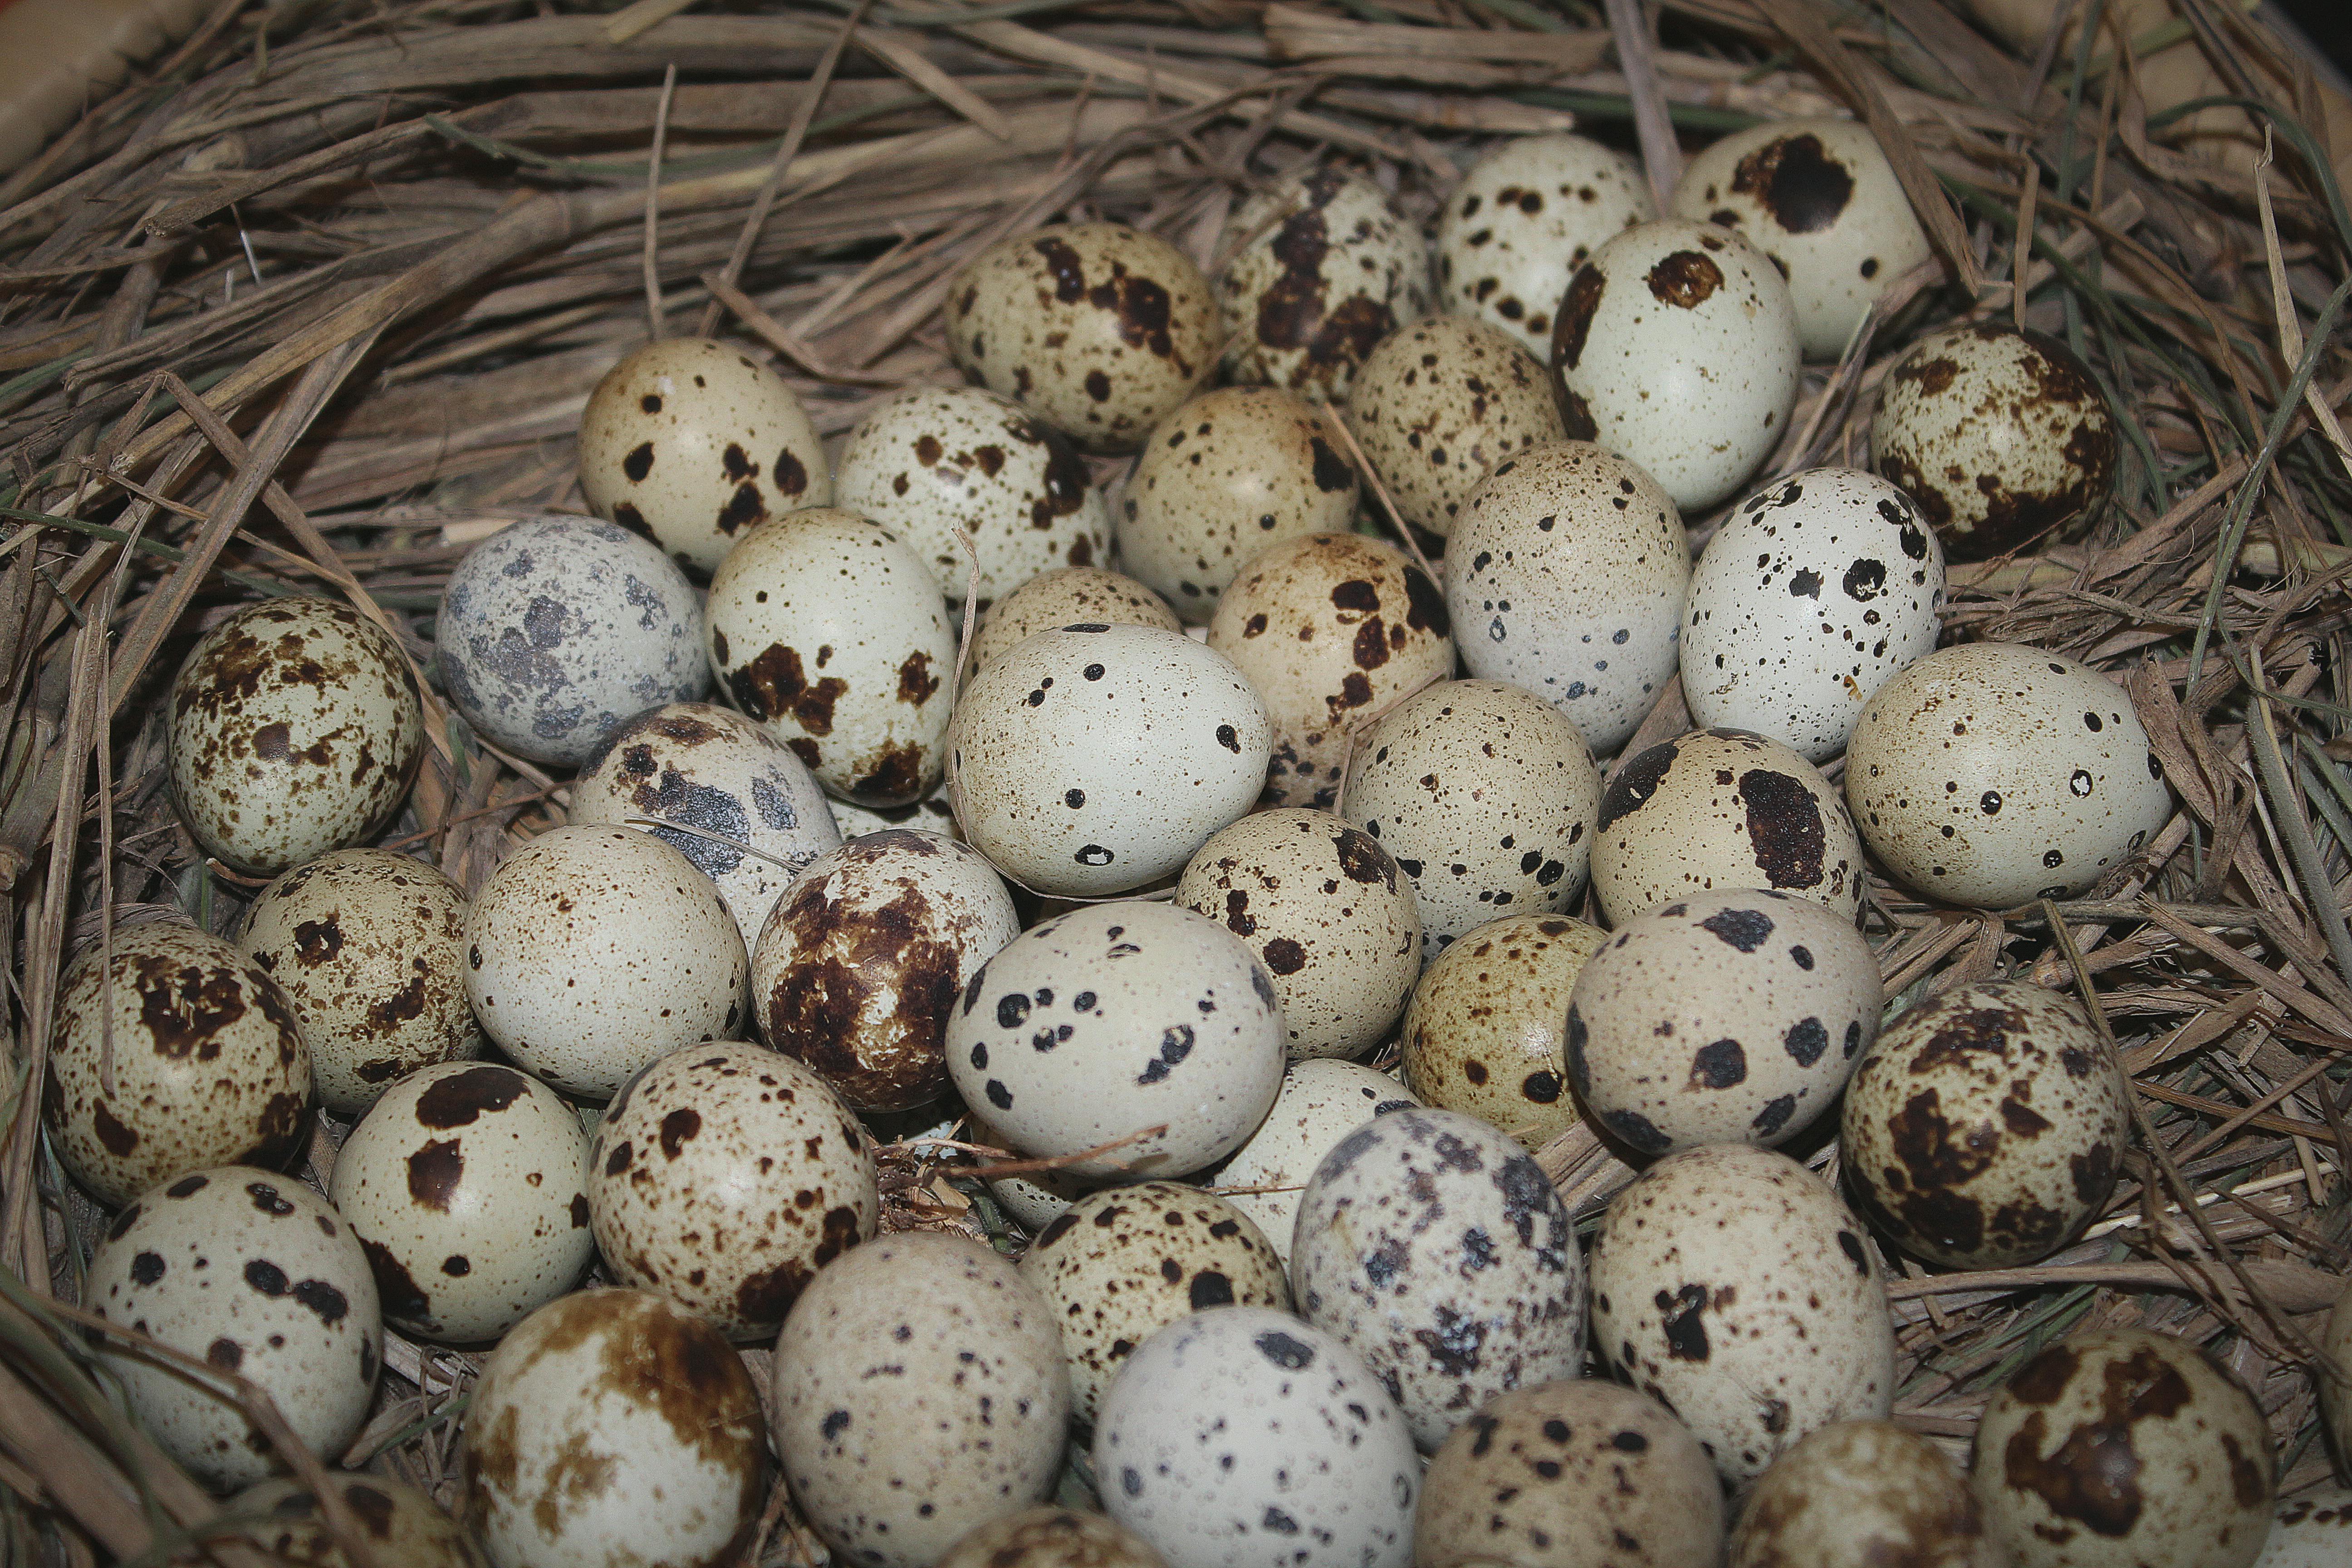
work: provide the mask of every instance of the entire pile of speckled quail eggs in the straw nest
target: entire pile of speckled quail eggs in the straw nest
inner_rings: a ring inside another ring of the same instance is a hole
[[[830,456],[743,350],[616,364],[595,517],[442,602],[463,724],[572,773],[470,893],[367,849],[426,729],[383,628],[198,644],[176,799],[275,879],[235,940],[82,954],[45,1103],[118,1206],[89,1307],[179,1352],[103,1352],[155,1441],[315,1533],[200,1368],[334,1460],[390,1331],[482,1356],[463,1530],[346,1497],[400,1561],[722,1561],[774,1458],[868,1568],[2251,1563],[2270,1439],[2178,1340],[2042,1352],[1971,1476],[1891,1422],[1886,1253],[2049,1258],[2129,1140],[2079,1004],[1882,1020],[1858,929],[1872,867],[2002,910],[2169,820],[2114,682],[1936,646],[1947,559],[2100,505],[2096,381],[1962,324],[1875,470],[1759,480],[1929,254],[1839,120],[1726,136],[1672,214],[1517,139],[1435,266],[1315,169],[1216,252],[988,247],[971,386]],[[1630,745],[1677,677],[1698,729]],[[880,1117],[1007,1157],[995,1246],[884,1227]],[[1534,1159],[1578,1124],[1639,1166],[1588,1246]],[[1832,1131],[1839,1185],[1780,1152]],[[1108,1516],[1049,1505],[1080,1455]]]

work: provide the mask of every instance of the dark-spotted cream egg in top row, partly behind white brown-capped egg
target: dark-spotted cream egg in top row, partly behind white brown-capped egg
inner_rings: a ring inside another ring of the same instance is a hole
[[[1505,136],[1437,219],[1444,308],[1552,350],[1552,313],[1592,247],[1658,216],[1642,165],[1585,136]]]

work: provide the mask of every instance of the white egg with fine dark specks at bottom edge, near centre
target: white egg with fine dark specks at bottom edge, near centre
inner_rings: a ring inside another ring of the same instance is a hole
[[[1364,1359],[1272,1307],[1169,1324],[1094,1422],[1103,1509],[1169,1568],[1406,1568],[1416,1472]]]

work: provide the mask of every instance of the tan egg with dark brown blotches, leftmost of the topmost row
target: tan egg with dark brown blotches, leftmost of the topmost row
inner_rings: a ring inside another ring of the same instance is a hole
[[[955,364],[1089,451],[1134,451],[1216,369],[1216,296],[1174,244],[1124,223],[997,240],[943,308]]]

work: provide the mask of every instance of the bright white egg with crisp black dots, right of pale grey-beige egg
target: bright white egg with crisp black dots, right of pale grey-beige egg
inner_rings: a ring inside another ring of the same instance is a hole
[[[1809,468],[1748,496],[1698,557],[1682,696],[1703,729],[1828,762],[1863,703],[1936,651],[1940,609],[1943,545],[1910,496],[1856,468]]]

